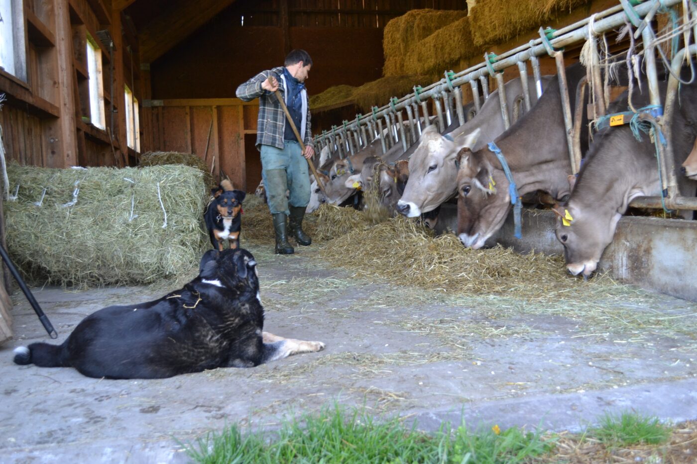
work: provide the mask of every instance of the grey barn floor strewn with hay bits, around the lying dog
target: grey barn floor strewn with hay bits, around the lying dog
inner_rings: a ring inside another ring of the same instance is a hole
[[[604,412],[625,410],[697,418],[697,304],[608,297],[599,323],[597,315],[567,316],[553,299],[544,302],[549,311],[528,311],[514,292],[464,298],[368,281],[322,261],[315,247],[293,256],[247,247],[259,262],[265,330],[323,341],[324,351],[164,380],[17,366],[13,348],[47,341],[17,292],[15,341],[0,347],[0,461],[186,462],[181,442],[207,431],[273,429],[335,402],[414,418],[429,431],[463,418],[470,426],[580,431]],[[171,289],[36,288],[34,295],[62,341],[101,307]],[[646,317],[640,323],[627,314]]]

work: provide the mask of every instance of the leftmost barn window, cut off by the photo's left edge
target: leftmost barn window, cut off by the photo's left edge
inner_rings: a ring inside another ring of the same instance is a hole
[[[0,69],[26,82],[22,0],[0,1]]]

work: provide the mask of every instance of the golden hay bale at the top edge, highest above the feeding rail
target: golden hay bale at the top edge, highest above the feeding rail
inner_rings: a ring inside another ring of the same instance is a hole
[[[569,13],[588,0],[478,0],[470,12],[475,47],[510,40],[521,33],[536,31],[544,22]]]

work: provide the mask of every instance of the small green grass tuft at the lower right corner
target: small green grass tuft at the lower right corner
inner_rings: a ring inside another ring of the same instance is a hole
[[[606,414],[600,419],[600,426],[588,432],[608,446],[662,444],[671,437],[671,429],[657,417],[643,417],[635,412],[622,412],[619,416]]]

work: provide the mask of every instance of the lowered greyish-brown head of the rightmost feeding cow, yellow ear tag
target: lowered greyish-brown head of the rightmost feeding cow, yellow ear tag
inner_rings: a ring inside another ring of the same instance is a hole
[[[573,198],[565,205],[554,206],[553,210],[557,215],[557,240],[564,245],[567,269],[574,275],[589,277],[612,242],[622,215],[606,208],[581,208]]]

